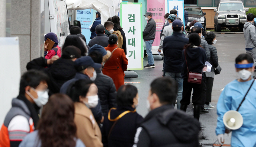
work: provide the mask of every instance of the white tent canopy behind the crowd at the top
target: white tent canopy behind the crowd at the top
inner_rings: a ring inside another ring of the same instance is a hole
[[[81,5],[79,1],[82,2]],[[68,10],[94,9],[100,12],[101,24],[104,24],[108,18],[118,15],[120,2],[122,0],[66,0]]]

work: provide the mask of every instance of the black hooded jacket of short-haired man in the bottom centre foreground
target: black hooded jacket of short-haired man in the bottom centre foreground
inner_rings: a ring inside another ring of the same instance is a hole
[[[200,123],[172,105],[152,110],[137,129],[137,147],[198,147]],[[139,134],[140,133],[140,134]]]

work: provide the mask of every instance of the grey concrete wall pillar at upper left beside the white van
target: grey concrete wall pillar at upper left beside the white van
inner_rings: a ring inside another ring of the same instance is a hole
[[[41,9],[41,0],[12,0],[11,36],[19,37],[21,73],[26,71],[29,61],[42,55],[40,45],[44,39],[40,28],[44,23],[41,23]]]

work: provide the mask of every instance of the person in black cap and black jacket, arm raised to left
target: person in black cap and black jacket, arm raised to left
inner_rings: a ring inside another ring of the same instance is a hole
[[[50,90],[49,94],[51,95],[54,93],[59,93],[62,84],[74,78],[76,74],[74,61],[80,57],[80,49],[75,46],[67,46],[63,49],[60,59],[58,59],[57,56],[53,56],[52,59],[40,57],[30,61],[27,64],[27,70],[37,69],[48,74],[50,77],[48,88]]]

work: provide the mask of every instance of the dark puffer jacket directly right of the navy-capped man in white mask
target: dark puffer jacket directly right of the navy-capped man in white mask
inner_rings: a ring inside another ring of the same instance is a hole
[[[98,87],[98,96],[102,108],[103,116],[108,113],[110,108],[116,108],[116,86],[109,76],[102,74],[96,69],[97,77],[94,83]],[[107,119],[107,118],[105,118]]]

